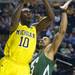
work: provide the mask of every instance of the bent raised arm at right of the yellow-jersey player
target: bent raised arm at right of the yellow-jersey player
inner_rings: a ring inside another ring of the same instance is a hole
[[[38,25],[36,26],[36,29],[38,32],[47,28],[50,25],[50,23],[52,23],[54,21],[54,13],[52,11],[52,8],[51,8],[48,0],[42,0],[42,1],[44,2],[44,5],[47,10],[47,17],[41,19],[40,22],[38,23]]]

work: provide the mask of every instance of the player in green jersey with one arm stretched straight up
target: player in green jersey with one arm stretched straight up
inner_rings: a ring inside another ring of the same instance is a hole
[[[59,32],[55,35],[53,42],[51,43],[50,38],[48,37],[42,38],[43,51],[31,63],[32,75],[52,75],[52,71],[54,69],[54,55],[56,54],[67,29],[68,23],[66,10],[71,1],[72,0],[67,1],[63,6],[60,7],[63,10],[62,19]]]

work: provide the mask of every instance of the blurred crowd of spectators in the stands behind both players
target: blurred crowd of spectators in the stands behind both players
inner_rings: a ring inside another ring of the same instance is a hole
[[[13,2],[0,2],[0,58],[3,56],[3,49],[9,35],[11,33],[11,21],[12,13],[19,5],[20,0],[14,0]],[[38,40],[43,36],[49,36],[53,39],[56,32],[58,32],[61,12],[58,6],[62,5],[64,2],[53,1],[50,5],[55,14],[55,21],[52,27],[48,27],[46,30],[38,35]],[[46,9],[42,2],[37,2],[35,0],[32,3],[25,4],[24,7],[29,7],[32,11],[32,23],[39,22],[42,17],[47,15]],[[61,46],[56,54],[56,66],[53,75],[75,75],[75,2],[73,1],[68,10],[68,28],[65,37],[61,43]],[[38,45],[37,45],[37,49]],[[36,52],[38,53],[38,51]]]

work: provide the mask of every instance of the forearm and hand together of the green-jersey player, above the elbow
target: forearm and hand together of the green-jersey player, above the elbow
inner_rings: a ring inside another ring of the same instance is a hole
[[[66,14],[66,10],[69,7],[69,4],[72,2],[72,0],[68,0],[63,6],[60,6],[61,10],[63,10],[64,12],[62,13],[62,21],[60,24],[60,31],[59,32],[66,32],[66,28],[67,28],[67,14]]]

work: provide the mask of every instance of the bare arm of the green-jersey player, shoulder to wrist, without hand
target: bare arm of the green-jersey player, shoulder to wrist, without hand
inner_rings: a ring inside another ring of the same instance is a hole
[[[54,60],[54,55],[58,51],[58,48],[59,48],[59,46],[60,46],[60,44],[61,44],[61,42],[63,40],[63,37],[64,37],[64,35],[66,33],[66,29],[67,29],[67,23],[68,23],[67,22],[67,13],[63,12],[59,32],[55,35],[53,43],[48,45],[45,48],[46,56],[51,60]]]

